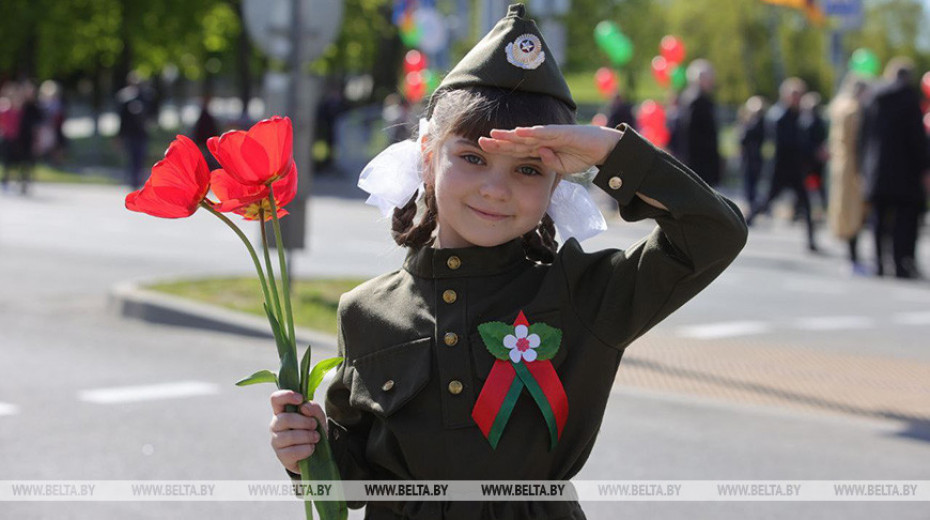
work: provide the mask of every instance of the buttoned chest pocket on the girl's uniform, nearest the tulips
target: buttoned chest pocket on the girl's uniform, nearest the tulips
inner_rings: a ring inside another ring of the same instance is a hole
[[[356,359],[349,404],[388,417],[426,386],[432,338],[394,345]]]

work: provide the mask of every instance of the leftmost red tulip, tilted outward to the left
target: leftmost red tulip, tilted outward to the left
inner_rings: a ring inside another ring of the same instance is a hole
[[[126,209],[162,218],[189,217],[209,188],[207,161],[193,141],[179,135],[142,189],[126,196]]]

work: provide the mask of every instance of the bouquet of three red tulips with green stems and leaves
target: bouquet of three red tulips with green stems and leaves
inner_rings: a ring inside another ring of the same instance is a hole
[[[182,135],[168,146],[165,158],[152,167],[152,175],[142,189],[126,196],[126,208],[162,218],[189,217],[204,208],[216,215],[245,244],[264,295],[265,313],[274,333],[281,361],[277,373],[261,370],[237,382],[239,386],[255,383],[275,383],[278,388],[293,390],[313,399],[324,374],[342,362],[342,358],[329,358],[310,367],[310,346],[297,362],[297,340],[294,336],[294,316],[291,311],[290,284],[287,261],[281,247],[279,219],[287,215],[284,209],[297,193],[297,166],[293,157],[293,129],[286,117],[272,117],[256,123],[248,132],[234,130],[207,141],[210,153],[222,168],[210,172],[203,154],[190,139]],[[212,190],[216,201],[207,197]],[[255,249],[241,229],[224,213],[242,215],[245,220],[261,222],[262,250],[265,268]],[[279,277],[276,280],[268,237],[264,223],[272,222],[278,251]],[[280,291],[278,290],[280,285]],[[296,412],[297,407],[288,411]],[[314,454],[300,462],[303,480],[332,481],[338,489],[339,471],[333,462],[332,451],[326,438],[324,425],[319,424],[320,442]],[[305,497],[308,519],[313,518],[315,503],[324,520],[344,519],[348,516],[345,502],[316,501]]]

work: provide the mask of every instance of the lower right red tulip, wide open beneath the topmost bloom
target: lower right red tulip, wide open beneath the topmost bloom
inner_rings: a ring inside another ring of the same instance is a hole
[[[213,170],[210,176],[213,194],[220,201],[214,205],[217,211],[233,212],[246,220],[258,220],[260,210],[265,210],[265,220],[271,220],[271,202],[268,200],[268,186],[250,186],[234,179],[222,168]],[[297,166],[291,163],[291,169],[271,185],[274,189],[274,201],[278,208],[278,218],[287,215],[284,209],[297,194]]]

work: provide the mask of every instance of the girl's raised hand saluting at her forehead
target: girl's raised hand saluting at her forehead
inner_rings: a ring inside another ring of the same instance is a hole
[[[623,132],[594,125],[545,125],[491,130],[478,144],[488,153],[539,157],[556,173],[583,172],[602,164]]]

